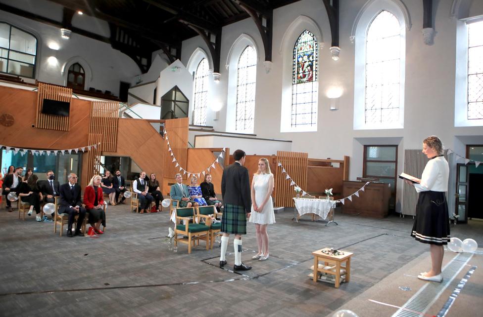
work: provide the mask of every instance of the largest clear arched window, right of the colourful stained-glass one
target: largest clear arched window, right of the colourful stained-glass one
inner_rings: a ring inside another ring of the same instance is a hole
[[[372,21],[366,37],[365,122],[399,122],[400,26],[397,18],[382,11]]]

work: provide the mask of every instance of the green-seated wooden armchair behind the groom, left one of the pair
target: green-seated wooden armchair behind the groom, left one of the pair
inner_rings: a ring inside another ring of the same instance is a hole
[[[200,236],[206,236],[206,239],[201,239],[206,241],[206,250],[209,248],[209,232],[211,225],[211,218],[205,215],[198,215],[199,218],[205,218],[205,224],[190,223],[191,218],[195,218],[195,207],[185,207],[176,209],[176,227],[174,231],[174,245],[178,246],[178,241],[181,243],[188,244],[188,254],[191,253],[192,244],[194,246],[194,241],[200,239]],[[182,220],[186,220],[185,224],[182,224]],[[178,235],[184,235],[188,238],[178,238]]]

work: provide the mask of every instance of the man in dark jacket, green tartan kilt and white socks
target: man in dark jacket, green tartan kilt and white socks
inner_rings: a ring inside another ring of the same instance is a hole
[[[225,253],[230,234],[235,235],[233,247],[235,250],[235,265],[233,270],[247,271],[251,266],[241,263],[241,235],[246,235],[246,218],[250,217],[251,197],[250,180],[245,163],[245,152],[237,150],[233,153],[235,163],[223,170],[221,178],[221,196],[225,207],[221,219],[221,255],[220,268],[227,264]]]

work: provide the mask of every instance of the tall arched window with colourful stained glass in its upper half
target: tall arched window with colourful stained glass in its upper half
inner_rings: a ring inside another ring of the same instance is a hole
[[[317,39],[305,30],[293,47],[292,128],[317,126]]]

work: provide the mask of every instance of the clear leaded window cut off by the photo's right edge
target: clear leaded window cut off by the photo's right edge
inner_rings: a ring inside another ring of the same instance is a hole
[[[468,24],[468,119],[483,119],[483,21]]]

